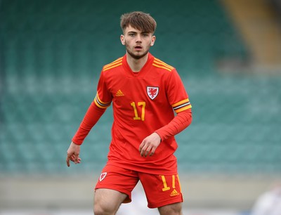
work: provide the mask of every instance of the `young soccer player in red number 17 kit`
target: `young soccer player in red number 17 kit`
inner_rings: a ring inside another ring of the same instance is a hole
[[[188,94],[176,69],[149,52],[155,20],[148,13],[126,13],[121,27],[126,54],[103,67],[96,98],[67,150],[67,166],[81,161],[81,143],[112,103],[112,141],[95,188],[94,214],[116,214],[131,202],[139,180],[148,207],[161,215],[182,214],[174,136],[192,121]]]

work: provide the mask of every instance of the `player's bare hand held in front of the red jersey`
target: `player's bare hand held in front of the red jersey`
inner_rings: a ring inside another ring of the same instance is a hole
[[[161,138],[158,135],[158,133],[152,133],[150,134],[150,136],[144,138],[139,148],[139,151],[141,152],[141,157],[154,155],[155,150],[157,149],[160,143],[161,143]]]

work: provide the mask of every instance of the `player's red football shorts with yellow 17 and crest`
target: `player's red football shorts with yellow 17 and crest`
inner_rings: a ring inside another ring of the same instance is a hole
[[[131,202],[131,191],[141,181],[148,207],[156,208],[167,204],[183,202],[178,175],[154,175],[132,171],[122,167],[106,165],[98,178],[96,188],[117,190],[128,195],[123,203]]]

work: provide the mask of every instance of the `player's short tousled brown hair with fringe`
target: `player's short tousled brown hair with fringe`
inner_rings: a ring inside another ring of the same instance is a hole
[[[120,26],[124,32],[126,27],[136,28],[142,32],[154,33],[156,29],[156,21],[149,13],[143,13],[141,11],[134,11],[131,13],[124,13],[121,16]]]

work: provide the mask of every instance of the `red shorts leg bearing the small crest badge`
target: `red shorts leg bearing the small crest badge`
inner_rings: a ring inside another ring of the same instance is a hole
[[[131,202],[131,191],[135,188],[137,183],[138,174],[136,171],[106,165],[98,178],[95,190],[97,192],[98,189],[103,188],[118,191],[126,195],[123,203],[128,203]]]

